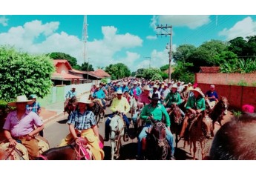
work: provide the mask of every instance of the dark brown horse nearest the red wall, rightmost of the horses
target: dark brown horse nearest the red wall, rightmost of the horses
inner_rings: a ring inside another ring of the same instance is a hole
[[[221,96],[219,102],[217,102],[217,104],[214,105],[214,108],[209,113],[209,117],[212,120],[213,130],[214,130],[215,122],[218,122],[220,124],[220,126],[222,126],[221,120],[223,119],[223,114],[224,114],[225,110],[228,109],[228,107],[229,107],[228,99],[226,98],[226,96]]]

